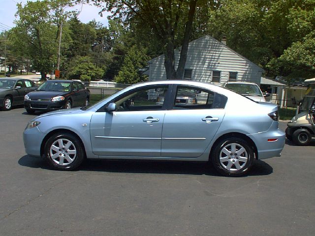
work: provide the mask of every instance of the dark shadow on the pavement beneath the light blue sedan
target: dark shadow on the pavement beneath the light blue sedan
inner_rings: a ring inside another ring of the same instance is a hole
[[[22,156],[18,163],[30,168],[51,170],[43,158],[29,155]],[[221,176],[210,163],[185,161],[86,160],[76,170],[76,172],[79,171]],[[261,160],[255,160],[246,176],[264,176],[271,173],[273,169],[270,165]]]

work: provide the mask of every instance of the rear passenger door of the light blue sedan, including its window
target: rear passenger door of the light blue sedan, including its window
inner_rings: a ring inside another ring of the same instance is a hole
[[[174,92],[171,110],[165,112],[161,156],[198,157],[221,125],[227,98],[191,86],[177,86]]]

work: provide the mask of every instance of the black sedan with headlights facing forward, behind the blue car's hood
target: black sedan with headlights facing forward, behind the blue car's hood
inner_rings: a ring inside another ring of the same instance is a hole
[[[51,80],[28,93],[24,98],[24,107],[28,113],[33,114],[35,111],[88,106],[89,102],[90,90],[82,83],[72,80]]]

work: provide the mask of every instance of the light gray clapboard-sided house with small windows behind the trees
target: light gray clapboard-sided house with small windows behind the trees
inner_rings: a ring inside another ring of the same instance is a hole
[[[175,64],[180,48],[175,50]],[[149,81],[166,80],[164,55],[149,60]],[[177,66],[176,65],[176,66]],[[259,66],[239,55],[217,39],[206,35],[189,43],[184,78],[215,85],[226,81],[254,82],[260,86],[263,72]]]

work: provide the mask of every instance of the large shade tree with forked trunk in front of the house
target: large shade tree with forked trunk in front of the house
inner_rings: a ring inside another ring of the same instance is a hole
[[[93,0],[96,5],[106,2],[104,10],[110,10],[125,24],[137,24],[150,29],[149,37],[156,42],[165,56],[167,79],[182,79],[197,0]],[[205,3],[206,1],[200,1]],[[201,5],[202,7],[204,5]],[[181,45],[178,67],[175,69],[174,49]]]

